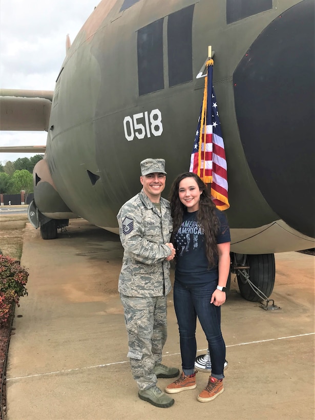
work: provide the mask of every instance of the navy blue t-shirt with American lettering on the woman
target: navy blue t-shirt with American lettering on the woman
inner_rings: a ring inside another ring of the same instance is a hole
[[[176,249],[175,280],[184,284],[204,284],[219,277],[218,259],[208,267],[203,229],[197,222],[197,212],[184,213],[183,222],[174,237]],[[217,243],[230,242],[228,222],[224,213],[216,208],[220,221]]]

